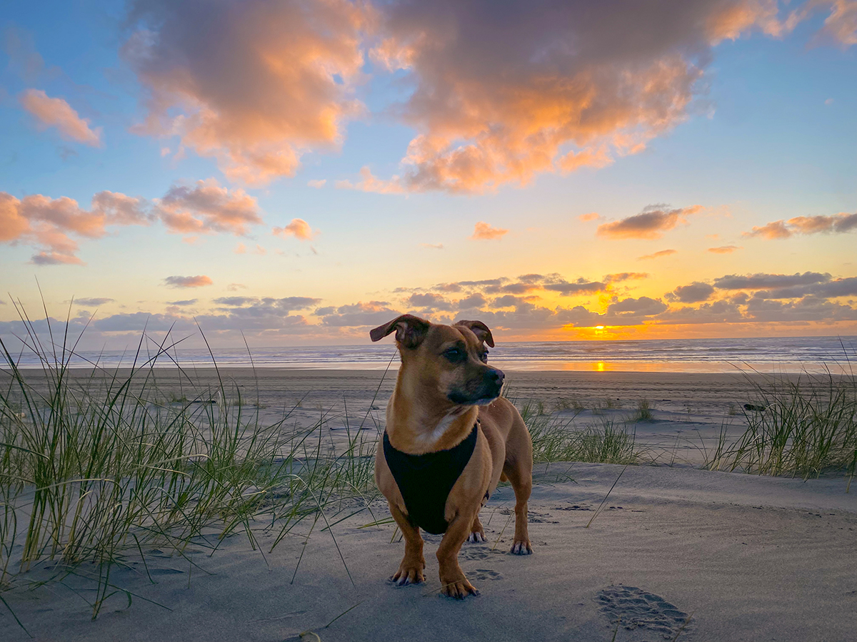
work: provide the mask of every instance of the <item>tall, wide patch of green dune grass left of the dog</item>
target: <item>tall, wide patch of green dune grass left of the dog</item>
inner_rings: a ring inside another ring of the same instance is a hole
[[[276,546],[303,520],[343,510],[345,498],[374,496],[374,445],[350,431],[345,452],[330,455],[317,430],[323,414],[302,431],[287,425],[288,408],[263,425],[241,389],[222,378],[195,389],[187,372],[180,395],[165,393],[155,366],[171,360],[171,346],[147,355],[145,335],[129,368],[93,363],[90,377],[72,377],[69,337],[45,346],[27,329],[39,370],[21,369],[0,340],[0,602],[28,569],[51,562],[61,578],[92,562],[95,618],[122,592],[111,568],[131,553],[183,556],[191,542],[213,551],[235,532],[256,550],[260,524]]]

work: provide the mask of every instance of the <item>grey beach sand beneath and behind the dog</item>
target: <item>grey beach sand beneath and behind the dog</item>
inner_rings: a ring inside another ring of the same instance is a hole
[[[372,401],[380,372],[264,370],[258,385],[249,371],[225,375],[252,390],[254,402],[259,389],[266,417],[302,397],[292,415],[298,425],[327,412],[322,432],[331,448],[345,432],[345,406],[350,422],[369,417],[366,437],[375,438],[393,384],[393,377],[382,383]],[[159,385],[177,385],[168,378],[159,373]],[[651,460],[661,465],[537,467],[532,556],[506,552],[513,496],[500,488],[483,509],[488,544],[464,544],[459,557],[478,597],[440,596],[434,536],[426,538],[428,581],[389,584],[404,544],[391,542],[391,524],[361,528],[388,516],[381,501],[333,526],[333,534],[296,534],[264,555],[236,535],[213,556],[204,542],[186,558],[149,553],[148,574],[139,556],[129,556],[111,582],[137,597],[129,607],[123,593],[114,595],[97,621],[84,601],[93,585],[75,577],[3,597],[43,640],[315,639],[299,637],[307,631],[326,641],[610,640],[614,632],[616,640],[854,639],[857,484],[846,494],[842,477],[804,482],[694,467],[704,447],[692,443],[704,443],[724,421],[740,428],[740,415],[729,413],[730,404],[752,401],[742,377],[525,372],[509,379],[512,396],[541,400],[548,410],[578,399],[590,408],[578,413],[578,425],[628,415],[638,399],[650,400],[656,421],[638,425],[638,440],[648,440]],[[607,407],[616,398],[622,407]],[[577,411],[554,412],[571,419]],[[273,541],[276,532],[257,526],[263,542]],[[38,568],[30,578],[50,573]],[[29,638],[6,612],[0,639]]]

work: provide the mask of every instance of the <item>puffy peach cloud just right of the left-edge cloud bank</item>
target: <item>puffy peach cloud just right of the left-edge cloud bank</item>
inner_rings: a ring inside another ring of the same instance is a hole
[[[173,185],[155,209],[167,229],[177,234],[231,232],[245,235],[249,225],[262,222],[256,199],[243,189],[230,192],[218,181],[196,181],[193,187]]]

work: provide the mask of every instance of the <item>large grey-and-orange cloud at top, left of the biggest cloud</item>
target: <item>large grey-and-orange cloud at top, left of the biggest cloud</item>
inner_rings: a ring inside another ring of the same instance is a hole
[[[294,175],[303,153],[338,149],[363,113],[353,94],[371,14],[346,0],[140,0],[129,16],[140,28],[123,47],[148,92],[135,131],[178,136],[232,181]]]

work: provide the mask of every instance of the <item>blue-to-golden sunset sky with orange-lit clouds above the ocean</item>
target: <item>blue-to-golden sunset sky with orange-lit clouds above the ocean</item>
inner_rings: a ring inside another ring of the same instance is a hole
[[[13,0],[0,44],[5,342],[857,335],[854,0]]]

